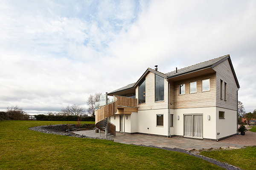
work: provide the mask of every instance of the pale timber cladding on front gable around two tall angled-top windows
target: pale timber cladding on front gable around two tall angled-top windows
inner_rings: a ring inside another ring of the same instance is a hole
[[[145,103],[138,104],[138,110],[168,108],[168,82],[164,79],[164,101],[155,102],[155,74],[149,72],[145,77]],[[138,98],[138,87],[136,98]]]

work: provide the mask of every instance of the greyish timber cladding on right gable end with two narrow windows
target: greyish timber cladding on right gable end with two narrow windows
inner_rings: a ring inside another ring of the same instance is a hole
[[[216,102],[217,107],[228,108],[232,110],[237,110],[237,85],[236,80],[233,75],[233,72],[230,67],[228,59],[216,65],[213,68],[216,71],[216,84],[217,84],[217,95]],[[221,80],[222,84],[222,99],[221,99]],[[225,96],[225,85],[227,83],[226,89],[226,101],[224,100]]]

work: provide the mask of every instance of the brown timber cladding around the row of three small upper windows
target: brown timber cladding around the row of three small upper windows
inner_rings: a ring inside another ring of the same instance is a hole
[[[202,92],[202,80],[210,79],[210,90]],[[189,83],[197,82],[196,93],[189,93]],[[179,85],[185,84],[185,94],[179,95]],[[216,106],[216,75],[207,74],[174,82],[175,109]]]

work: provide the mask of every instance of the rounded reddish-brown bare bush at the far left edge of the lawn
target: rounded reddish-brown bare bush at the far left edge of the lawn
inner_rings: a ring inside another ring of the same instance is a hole
[[[7,116],[13,120],[27,120],[29,115],[18,106],[11,106],[6,108]]]

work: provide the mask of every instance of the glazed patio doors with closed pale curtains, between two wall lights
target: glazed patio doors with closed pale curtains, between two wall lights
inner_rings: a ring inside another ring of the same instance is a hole
[[[203,138],[203,115],[184,115],[184,136]]]

